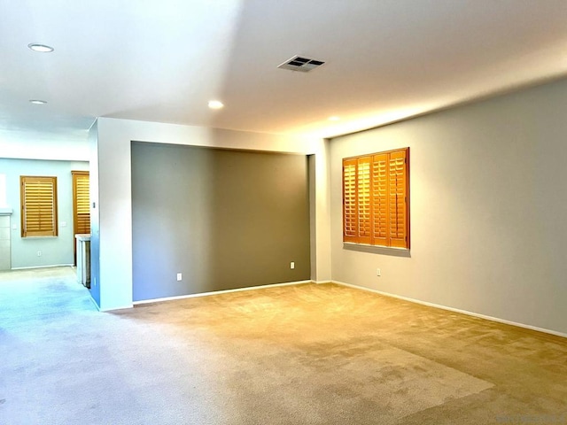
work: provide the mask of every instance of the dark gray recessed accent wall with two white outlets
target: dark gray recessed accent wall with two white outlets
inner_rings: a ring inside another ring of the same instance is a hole
[[[307,156],[133,142],[131,158],[134,301],[310,279]]]

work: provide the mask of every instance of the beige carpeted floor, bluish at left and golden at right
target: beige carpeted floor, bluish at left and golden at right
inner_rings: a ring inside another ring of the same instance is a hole
[[[567,340],[338,285],[98,313],[0,274],[0,424],[567,424]]]

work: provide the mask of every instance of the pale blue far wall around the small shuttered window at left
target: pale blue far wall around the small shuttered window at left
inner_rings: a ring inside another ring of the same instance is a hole
[[[74,263],[73,181],[71,171],[88,169],[88,162],[0,158],[0,174],[6,174],[7,203],[13,209],[11,217],[12,268],[44,267]],[[19,209],[20,175],[57,177],[57,237],[21,237],[21,214]],[[37,251],[42,252],[41,257],[37,256]]]

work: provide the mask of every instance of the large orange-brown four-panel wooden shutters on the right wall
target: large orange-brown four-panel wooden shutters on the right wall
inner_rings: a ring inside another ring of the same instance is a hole
[[[409,149],[343,160],[343,241],[409,248]]]

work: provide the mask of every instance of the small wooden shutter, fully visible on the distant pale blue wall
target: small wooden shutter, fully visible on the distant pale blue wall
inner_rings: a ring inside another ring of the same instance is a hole
[[[21,237],[57,236],[57,177],[19,177]]]

